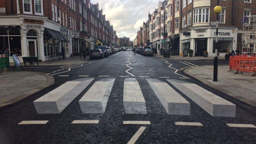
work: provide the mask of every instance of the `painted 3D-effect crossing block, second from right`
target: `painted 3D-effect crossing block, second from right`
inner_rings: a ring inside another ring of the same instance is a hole
[[[169,115],[190,115],[190,103],[166,82],[146,79]]]

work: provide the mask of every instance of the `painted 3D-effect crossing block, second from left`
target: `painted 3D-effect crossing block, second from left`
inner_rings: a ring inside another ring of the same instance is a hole
[[[115,78],[104,78],[95,82],[79,100],[84,114],[104,113]]]

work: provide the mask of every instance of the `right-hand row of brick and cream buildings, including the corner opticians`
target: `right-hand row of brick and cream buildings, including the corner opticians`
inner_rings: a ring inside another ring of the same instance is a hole
[[[194,56],[225,56],[232,50],[242,50],[242,22],[244,15],[256,15],[256,0],[220,0],[218,47],[215,47],[216,0],[167,0],[159,2],[149,21],[150,46],[163,48],[164,31],[168,33],[166,48],[173,55],[194,50]],[[249,20],[247,20],[249,21]],[[144,25],[144,24],[143,24]],[[140,33],[137,32],[136,42]]]

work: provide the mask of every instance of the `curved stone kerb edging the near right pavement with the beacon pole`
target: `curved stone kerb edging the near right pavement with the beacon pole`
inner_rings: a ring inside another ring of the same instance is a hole
[[[194,68],[194,67],[193,67],[193,68]],[[225,90],[225,89],[223,89],[223,88],[221,88],[221,87],[218,87],[218,86],[215,85],[215,84],[212,84],[212,83],[208,82],[208,81],[207,81],[206,79],[204,79],[204,78],[198,77],[198,76],[196,76],[196,75],[190,73],[189,70],[191,70],[191,69],[193,69],[193,68],[185,69],[185,70],[184,70],[184,73],[188,74],[189,76],[195,78],[195,79],[198,80],[198,81],[201,81],[202,83],[206,84],[207,86],[209,86],[209,87],[211,87],[211,88],[214,88],[214,89],[216,89],[216,90],[218,90],[218,91],[220,91],[220,92],[222,92],[222,93],[225,93],[225,94],[227,94],[227,95],[229,95],[229,96],[231,96],[231,97],[233,97],[233,98],[235,98],[235,99],[238,99],[238,100],[240,100],[240,101],[242,101],[242,102],[244,102],[244,103],[247,103],[247,104],[249,104],[249,105],[251,105],[251,106],[256,107],[256,103],[255,103],[255,102],[253,102],[253,101],[251,101],[251,100],[249,100],[249,99],[240,97],[239,95],[237,95],[237,94],[235,94],[235,93],[232,93],[232,92],[230,92],[230,91],[227,91],[227,90]]]

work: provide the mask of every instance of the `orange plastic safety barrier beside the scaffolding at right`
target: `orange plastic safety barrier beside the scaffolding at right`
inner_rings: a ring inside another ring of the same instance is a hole
[[[256,72],[256,57],[231,56],[229,69],[240,72]]]

